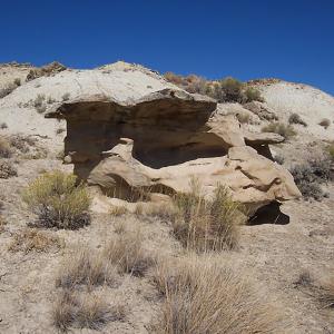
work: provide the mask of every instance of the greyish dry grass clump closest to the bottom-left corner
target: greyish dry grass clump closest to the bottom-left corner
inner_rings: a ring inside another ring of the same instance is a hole
[[[79,296],[78,293],[62,291],[52,307],[53,324],[61,332],[71,326],[99,331],[106,323],[124,318],[124,305],[107,305],[97,294]]]

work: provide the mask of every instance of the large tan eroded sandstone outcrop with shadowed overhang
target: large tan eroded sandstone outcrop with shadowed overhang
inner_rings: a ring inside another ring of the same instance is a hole
[[[121,71],[115,76],[119,79]],[[207,196],[218,183],[228,186],[250,215],[299,196],[291,174],[250,147],[281,138],[243,134],[234,115],[217,112],[215,100],[170,85],[126,94],[85,95],[47,114],[67,120],[66,161],[89,185],[137,200],[145,194],[188,191],[196,177]]]

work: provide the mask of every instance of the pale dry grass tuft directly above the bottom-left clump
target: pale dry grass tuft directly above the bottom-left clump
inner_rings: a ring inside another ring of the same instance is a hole
[[[78,247],[66,258],[56,278],[56,286],[72,289],[78,285],[116,286],[116,267],[110,265],[101,252],[95,252],[85,246]]]

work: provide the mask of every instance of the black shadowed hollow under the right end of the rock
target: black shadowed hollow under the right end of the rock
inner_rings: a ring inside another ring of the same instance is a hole
[[[277,224],[286,225],[289,223],[289,216],[285,215],[279,209],[278,202],[272,202],[259,209],[249,217],[248,225]]]

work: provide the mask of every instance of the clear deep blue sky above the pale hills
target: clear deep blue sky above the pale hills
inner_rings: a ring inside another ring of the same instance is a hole
[[[334,1],[0,0],[0,62],[125,60],[160,72],[276,77],[334,95]]]

